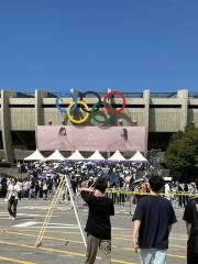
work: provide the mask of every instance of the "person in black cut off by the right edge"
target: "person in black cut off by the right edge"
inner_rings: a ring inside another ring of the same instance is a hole
[[[196,180],[198,190],[198,179]],[[188,233],[187,264],[198,263],[198,197],[188,201],[183,220],[186,221]]]

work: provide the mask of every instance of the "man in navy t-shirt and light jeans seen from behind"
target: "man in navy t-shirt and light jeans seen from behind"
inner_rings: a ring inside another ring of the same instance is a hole
[[[177,220],[170,201],[157,195],[162,177],[152,175],[148,184],[151,193],[139,200],[132,219],[133,244],[141,264],[165,264],[169,232]]]

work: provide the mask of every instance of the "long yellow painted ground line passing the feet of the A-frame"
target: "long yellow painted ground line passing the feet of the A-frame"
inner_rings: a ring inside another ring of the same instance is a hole
[[[21,246],[21,248],[35,250],[34,245],[28,245],[28,244],[21,244],[21,243],[11,243],[11,242],[7,242],[7,241],[0,241],[0,244],[12,245],[12,246]],[[75,255],[75,256],[79,256],[79,257],[85,257],[86,256],[86,254],[80,253],[80,252],[56,250],[56,249],[53,249],[53,248],[45,248],[45,246],[40,246],[35,251],[37,251],[37,250],[50,251],[50,252],[55,252],[55,253],[63,253],[63,254],[66,254],[66,255],[69,254],[69,255]],[[99,260],[99,257],[97,257],[97,260]],[[113,258],[111,261],[112,261],[112,263],[119,263],[119,264],[138,264],[138,263],[134,263],[134,262],[127,262],[127,261],[113,260]],[[26,263],[26,264],[29,264],[29,263]]]

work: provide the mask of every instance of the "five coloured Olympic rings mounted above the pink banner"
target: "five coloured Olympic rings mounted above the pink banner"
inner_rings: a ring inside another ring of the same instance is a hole
[[[113,120],[114,114],[121,113],[124,110],[125,105],[127,105],[127,99],[125,99],[123,92],[117,91],[117,90],[107,91],[103,97],[103,100],[101,99],[100,95],[96,91],[90,91],[90,90],[85,91],[85,92],[78,91],[77,94],[78,95],[70,92],[70,97],[73,100],[70,101],[68,108],[64,108],[62,106],[64,96],[56,97],[56,108],[58,109],[58,111],[62,114],[64,114],[65,117],[67,116],[67,118],[73,123],[76,123],[76,124],[86,122],[88,120],[89,116],[91,117],[91,119],[95,122],[100,123],[100,124],[106,124]],[[97,103],[95,103],[91,108],[89,108],[85,101],[87,95],[94,95],[98,99]],[[114,108],[110,103],[110,100],[114,96],[118,96],[122,99],[122,106],[119,109]],[[75,119],[74,114],[75,114],[76,110],[79,108],[84,112],[84,116],[80,119]],[[101,108],[106,109],[107,117],[103,117],[102,119],[98,119],[97,113],[100,111]]]

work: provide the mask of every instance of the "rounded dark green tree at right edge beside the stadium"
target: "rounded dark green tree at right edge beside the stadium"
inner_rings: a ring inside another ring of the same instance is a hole
[[[186,182],[198,177],[198,129],[187,128],[174,134],[165,161],[175,179]]]

